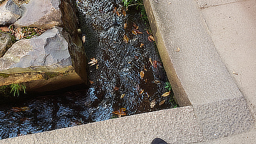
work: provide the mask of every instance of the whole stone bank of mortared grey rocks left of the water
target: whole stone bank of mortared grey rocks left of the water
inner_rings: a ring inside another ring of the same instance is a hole
[[[44,29],[44,33],[25,39],[23,30],[28,27]],[[3,1],[0,86],[24,83],[27,91],[42,92],[87,84],[87,58],[78,28],[72,1]],[[15,44],[12,32],[17,38]]]

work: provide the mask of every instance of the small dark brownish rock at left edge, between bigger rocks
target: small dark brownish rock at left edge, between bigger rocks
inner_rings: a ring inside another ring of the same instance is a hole
[[[12,36],[0,31],[0,58],[12,45]]]

